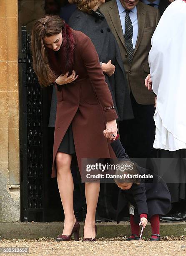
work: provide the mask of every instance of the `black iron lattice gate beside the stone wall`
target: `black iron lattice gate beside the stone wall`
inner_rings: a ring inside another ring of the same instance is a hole
[[[23,221],[44,220],[42,90],[32,68],[30,36],[22,27],[20,157]]]

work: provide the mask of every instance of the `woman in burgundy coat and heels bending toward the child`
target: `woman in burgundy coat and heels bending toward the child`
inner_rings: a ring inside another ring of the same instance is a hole
[[[65,222],[63,234],[56,241],[69,241],[73,233],[78,240],[79,223],[73,211],[70,171],[72,156],[76,154],[81,174],[82,158],[114,158],[110,142],[117,136],[118,116],[98,54],[88,36],[69,28],[58,16],[45,15],[35,21],[31,47],[40,85],[53,82],[57,90],[52,177],[57,176]],[[84,241],[96,241],[99,187],[99,182],[85,183]]]

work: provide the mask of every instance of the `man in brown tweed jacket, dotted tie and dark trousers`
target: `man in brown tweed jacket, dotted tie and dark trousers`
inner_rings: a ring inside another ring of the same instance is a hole
[[[144,79],[150,71],[148,53],[160,19],[159,11],[139,0],[111,0],[101,5],[100,10],[121,51],[134,113],[133,120],[120,122],[121,142],[130,157],[151,157],[155,94],[146,90]]]

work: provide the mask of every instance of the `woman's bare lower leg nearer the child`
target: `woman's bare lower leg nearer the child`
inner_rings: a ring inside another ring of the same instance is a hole
[[[85,197],[87,203],[87,214],[85,218],[84,238],[94,238],[95,233],[95,216],[98,203],[100,182],[85,183]]]

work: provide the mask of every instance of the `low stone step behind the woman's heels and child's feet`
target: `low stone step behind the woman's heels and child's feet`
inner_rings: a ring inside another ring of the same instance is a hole
[[[129,222],[121,222],[118,225],[113,222],[97,223],[97,238],[113,238],[117,236],[131,235]],[[83,237],[84,223],[80,223],[80,237]],[[43,237],[55,238],[63,230],[63,222],[52,223],[0,223],[0,239],[36,239]],[[180,223],[160,223],[161,236],[182,236],[186,235],[186,222]],[[150,223],[143,231],[143,236],[151,236]]]

